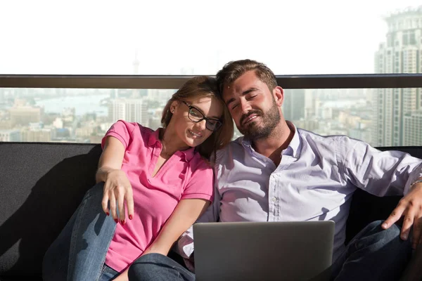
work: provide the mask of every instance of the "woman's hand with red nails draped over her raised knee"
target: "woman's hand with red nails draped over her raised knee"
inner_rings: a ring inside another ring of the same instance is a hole
[[[103,201],[101,205],[106,214],[111,214],[115,222],[120,221],[124,226],[126,220],[126,212],[124,202],[127,204],[127,213],[129,219],[134,215],[134,197],[132,185],[126,176],[126,173],[120,169],[110,169],[107,171],[106,183],[104,183]],[[110,208],[108,203],[110,202]],[[119,216],[117,217],[117,208]]]

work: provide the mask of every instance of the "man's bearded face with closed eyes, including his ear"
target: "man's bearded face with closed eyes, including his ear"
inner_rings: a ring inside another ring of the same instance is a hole
[[[270,91],[254,71],[224,85],[223,98],[238,130],[251,140],[266,138],[280,122],[283,89]]]

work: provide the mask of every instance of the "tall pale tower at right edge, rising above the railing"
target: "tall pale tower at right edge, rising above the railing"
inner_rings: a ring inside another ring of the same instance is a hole
[[[421,73],[422,6],[392,13],[385,21],[388,33],[375,55],[376,73]],[[372,144],[409,145],[404,117],[412,119],[422,108],[421,89],[378,89],[373,96]],[[421,132],[422,126],[415,129]]]

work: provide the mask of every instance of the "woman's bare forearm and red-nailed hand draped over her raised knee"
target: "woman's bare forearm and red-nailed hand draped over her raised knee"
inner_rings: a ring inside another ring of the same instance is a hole
[[[113,136],[108,136],[104,144],[96,172],[96,182],[103,181],[104,194],[103,211],[113,216],[117,221],[116,201],[119,209],[119,219],[122,224],[125,220],[124,200],[127,203],[127,212],[129,218],[133,218],[134,200],[132,185],[127,178],[126,173],[121,170],[124,157],[124,145]],[[108,202],[110,201],[110,209]]]

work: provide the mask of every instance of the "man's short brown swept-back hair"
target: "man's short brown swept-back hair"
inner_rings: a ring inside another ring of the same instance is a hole
[[[267,84],[270,91],[277,86],[276,75],[274,75],[274,72],[272,72],[267,65],[258,63],[255,60],[234,60],[226,63],[222,70],[217,72],[217,75],[215,76],[220,92],[223,92],[224,86],[233,83],[236,79],[245,74],[245,72],[250,70],[255,71],[258,79]]]

